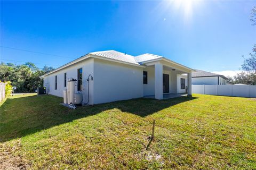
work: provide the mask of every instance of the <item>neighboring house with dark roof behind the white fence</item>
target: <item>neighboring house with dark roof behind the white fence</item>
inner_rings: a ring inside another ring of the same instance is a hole
[[[192,84],[227,85],[227,80],[224,75],[207,71],[196,70],[196,72],[192,73]]]

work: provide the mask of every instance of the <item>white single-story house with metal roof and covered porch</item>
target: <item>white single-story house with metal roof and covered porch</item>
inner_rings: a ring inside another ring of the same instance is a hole
[[[186,86],[191,95],[193,71],[154,54],[134,57],[108,50],[88,53],[43,78],[49,94],[59,97],[63,97],[63,90],[67,89],[67,80],[76,79],[76,88],[83,93],[83,103],[89,100],[93,105],[145,96],[163,99],[165,94],[185,93]]]

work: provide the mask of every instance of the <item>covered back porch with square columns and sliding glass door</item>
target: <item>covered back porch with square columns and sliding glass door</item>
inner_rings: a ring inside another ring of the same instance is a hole
[[[143,62],[143,96],[146,98],[167,99],[191,96],[190,69],[166,58]],[[146,81],[144,80],[145,76]],[[145,83],[146,82],[146,83]]]

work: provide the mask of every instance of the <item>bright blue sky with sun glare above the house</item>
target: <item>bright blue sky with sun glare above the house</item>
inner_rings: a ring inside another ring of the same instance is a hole
[[[237,71],[256,43],[256,1],[1,1],[1,61],[58,67],[89,52],[152,53]]]

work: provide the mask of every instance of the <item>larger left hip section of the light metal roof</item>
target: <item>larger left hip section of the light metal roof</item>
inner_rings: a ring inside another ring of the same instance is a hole
[[[110,58],[110,59],[118,60],[118,61],[122,61],[122,62],[127,62],[127,63],[140,65],[139,63],[137,63],[135,61],[135,58],[133,56],[128,55],[128,54],[124,54],[124,53],[121,53],[121,52],[117,52],[115,50],[107,50],[107,51],[102,51],[102,52],[93,52],[93,53],[89,53],[89,54],[97,55],[97,56],[101,56],[101,57],[106,57],[106,58]]]

